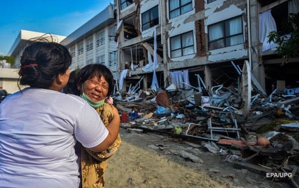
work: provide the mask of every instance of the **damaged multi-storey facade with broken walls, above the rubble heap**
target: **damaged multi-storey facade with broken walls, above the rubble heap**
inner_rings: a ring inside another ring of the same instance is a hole
[[[200,78],[211,92],[212,86],[236,82],[238,73],[231,61],[242,66],[244,60],[267,93],[280,80],[296,87],[298,58],[277,70],[283,60],[274,55],[275,49],[263,49],[270,31],[260,24],[265,11],[270,11],[279,31],[282,19],[275,15],[277,10],[287,17],[298,12],[296,3],[298,0],[117,0],[118,68],[126,86],[120,90],[127,90],[143,76],[141,88],[151,87],[155,70],[159,87],[199,87]],[[130,71],[123,72],[125,69]]]

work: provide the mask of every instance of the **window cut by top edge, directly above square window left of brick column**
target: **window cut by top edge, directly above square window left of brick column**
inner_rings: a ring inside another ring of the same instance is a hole
[[[192,0],[169,0],[170,19],[192,10]]]

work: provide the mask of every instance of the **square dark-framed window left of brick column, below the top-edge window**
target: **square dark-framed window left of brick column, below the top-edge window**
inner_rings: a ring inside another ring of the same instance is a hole
[[[171,57],[194,54],[193,31],[170,38]]]

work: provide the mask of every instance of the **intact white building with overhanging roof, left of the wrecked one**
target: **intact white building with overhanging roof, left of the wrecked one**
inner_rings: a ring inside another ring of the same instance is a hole
[[[71,71],[90,63],[102,63],[117,78],[117,42],[115,6],[108,5],[98,15],[84,23],[60,43],[72,55]]]

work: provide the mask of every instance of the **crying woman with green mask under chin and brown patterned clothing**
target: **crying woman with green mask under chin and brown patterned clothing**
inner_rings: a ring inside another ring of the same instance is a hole
[[[113,89],[113,75],[111,71],[102,64],[88,64],[76,75],[74,94],[80,95],[88,104],[98,112],[104,125],[108,125],[114,114],[112,104],[105,103]],[[116,141],[105,151],[94,152],[89,148],[81,146],[81,176],[82,188],[104,188],[104,172],[109,159],[121,144],[120,135]]]

